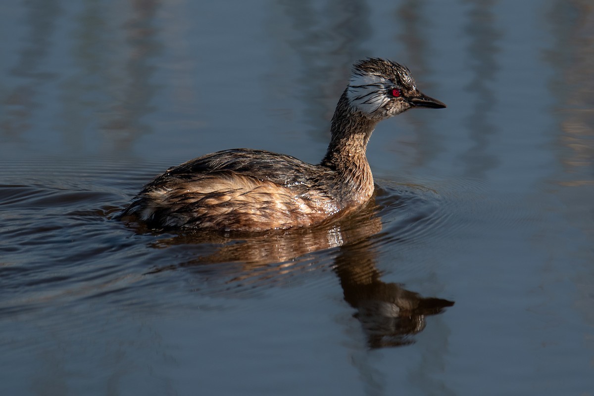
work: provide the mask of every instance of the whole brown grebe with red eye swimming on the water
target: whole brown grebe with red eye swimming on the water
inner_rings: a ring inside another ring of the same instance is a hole
[[[319,165],[289,155],[230,149],[169,168],[120,217],[168,229],[265,231],[319,223],[367,202],[374,181],[365,149],[375,124],[409,108],[444,108],[422,94],[409,69],[368,58],[353,66]]]

